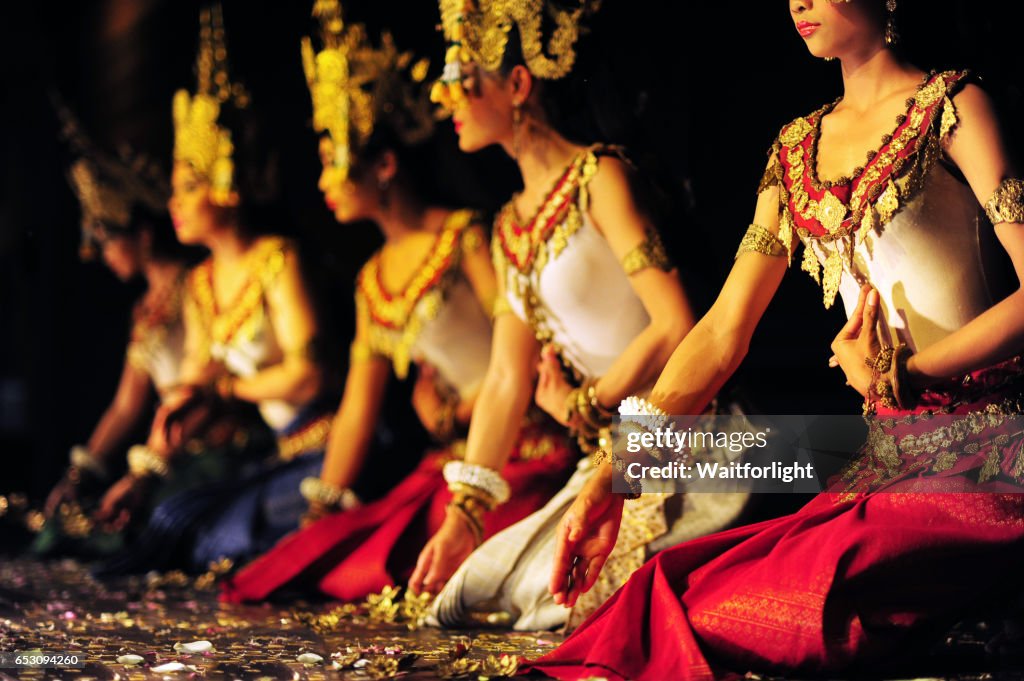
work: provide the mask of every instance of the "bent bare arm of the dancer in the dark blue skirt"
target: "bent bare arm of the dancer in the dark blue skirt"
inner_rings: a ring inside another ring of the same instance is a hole
[[[284,357],[253,376],[236,380],[234,396],[251,402],[307,402],[319,393],[324,376],[310,352],[316,337],[316,316],[294,251],[286,251],[284,267],[266,291],[266,300]]]

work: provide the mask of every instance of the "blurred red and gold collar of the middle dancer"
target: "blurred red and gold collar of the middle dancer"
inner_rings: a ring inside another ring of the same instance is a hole
[[[356,295],[366,302],[371,321],[388,329],[403,329],[417,303],[439,286],[459,262],[463,233],[475,219],[470,210],[453,212],[437,233],[430,255],[401,291],[389,291],[384,285],[380,251],[375,253],[356,279]]]

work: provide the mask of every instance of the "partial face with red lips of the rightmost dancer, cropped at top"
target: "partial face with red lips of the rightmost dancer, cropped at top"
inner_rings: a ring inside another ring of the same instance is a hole
[[[885,45],[884,22],[871,3],[881,0],[791,0],[790,13],[811,54],[843,58]]]

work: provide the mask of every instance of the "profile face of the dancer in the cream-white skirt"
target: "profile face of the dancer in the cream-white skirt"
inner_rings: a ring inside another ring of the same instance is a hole
[[[464,67],[466,103],[452,115],[459,148],[478,152],[512,139],[512,94],[506,79],[476,65]]]

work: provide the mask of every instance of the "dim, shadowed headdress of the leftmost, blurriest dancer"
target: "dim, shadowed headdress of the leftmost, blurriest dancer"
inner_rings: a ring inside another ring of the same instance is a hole
[[[118,157],[104,153],[83,132],[78,119],[55,94],[53,103],[61,136],[77,157],[68,170],[68,181],[82,212],[79,251],[83,259],[90,260],[103,236],[132,228],[132,210],[136,206],[155,214],[166,210],[167,179],[156,164],[127,147]]]

